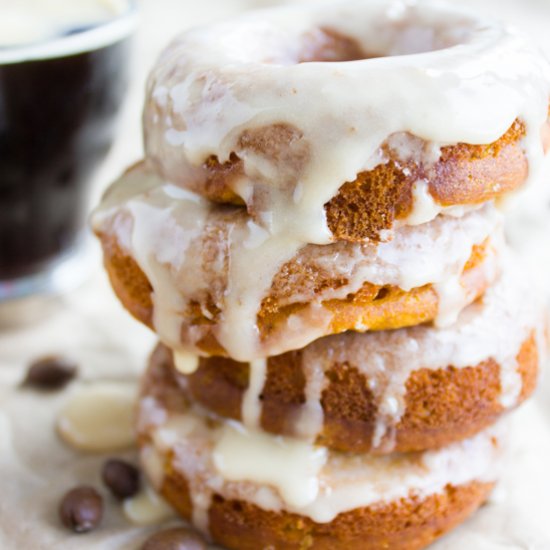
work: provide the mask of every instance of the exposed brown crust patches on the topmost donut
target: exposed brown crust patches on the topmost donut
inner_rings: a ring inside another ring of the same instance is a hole
[[[396,220],[410,214],[413,185],[418,180],[428,182],[430,194],[442,206],[481,204],[516,189],[528,173],[521,146],[524,136],[525,126],[515,120],[495,142],[442,147],[440,158],[429,165],[398,159],[388,143],[383,144],[381,149],[388,161],[357,174],[354,181],[344,182],[325,204],[328,227],[334,239],[378,240],[381,231],[390,230]],[[256,132],[254,136],[243,136],[240,147],[244,151],[260,150],[277,158],[277,143],[300,139],[295,130],[279,125]],[[295,160],[289,159],[289,162]],[[199,170],[199,182],[193,184],[193,190],[214,202],[243,205],[241,197],[232,190],[232,182],[238,180],[243,171],[243,162],[236,153],[225,163],[210,157]]]

